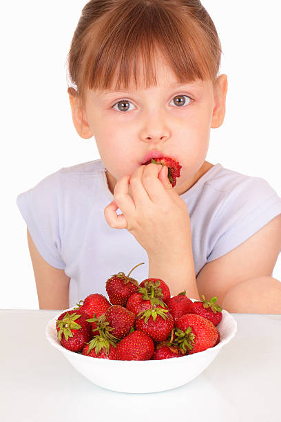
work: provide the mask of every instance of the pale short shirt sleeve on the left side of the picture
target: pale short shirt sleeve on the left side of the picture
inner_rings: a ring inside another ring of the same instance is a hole
[[[50,174],[34,188],[19,194],[17,206],[41,257],[53,267],[65,269],[60,256],[59,173]]]

